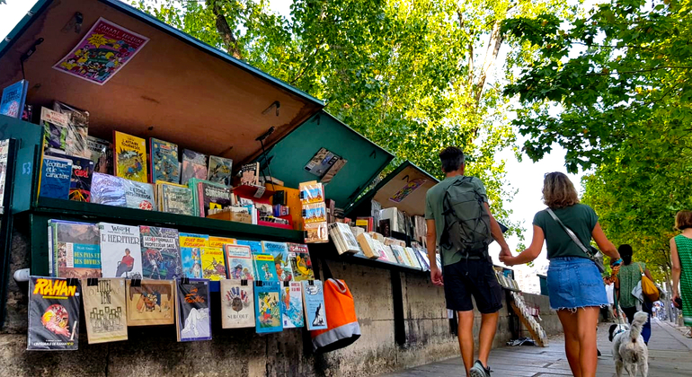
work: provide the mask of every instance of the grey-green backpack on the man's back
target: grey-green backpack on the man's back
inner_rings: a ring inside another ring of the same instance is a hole
[[[492,242],[490,215],[472,180],[463,177],[447,188],[442,202],[445,232],[440,243],[466,257],[486,259]]]

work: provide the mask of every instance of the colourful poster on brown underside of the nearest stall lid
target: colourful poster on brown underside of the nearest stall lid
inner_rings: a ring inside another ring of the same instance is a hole
[[[137,55],[149,39],[100,18],[53,68],[102,85]]]

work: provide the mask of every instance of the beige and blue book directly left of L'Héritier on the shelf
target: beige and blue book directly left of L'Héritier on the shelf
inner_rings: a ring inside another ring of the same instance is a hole
[[[49,254],[55,277],[101,277],[101,248],[96,224],[49,220]]]

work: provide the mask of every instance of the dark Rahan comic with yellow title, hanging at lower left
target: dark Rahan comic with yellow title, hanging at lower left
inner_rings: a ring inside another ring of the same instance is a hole
[[[79,345],[80,286],[59,277],[29,278],[28,350],[75,350]]]

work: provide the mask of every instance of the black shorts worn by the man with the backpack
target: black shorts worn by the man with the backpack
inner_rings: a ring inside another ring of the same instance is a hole
[[[442,268],[447,309],[473,311],[475,305],[483,314],[502,308],[502,287],[495,277],[492,263],[487,259],[462,259]]]

